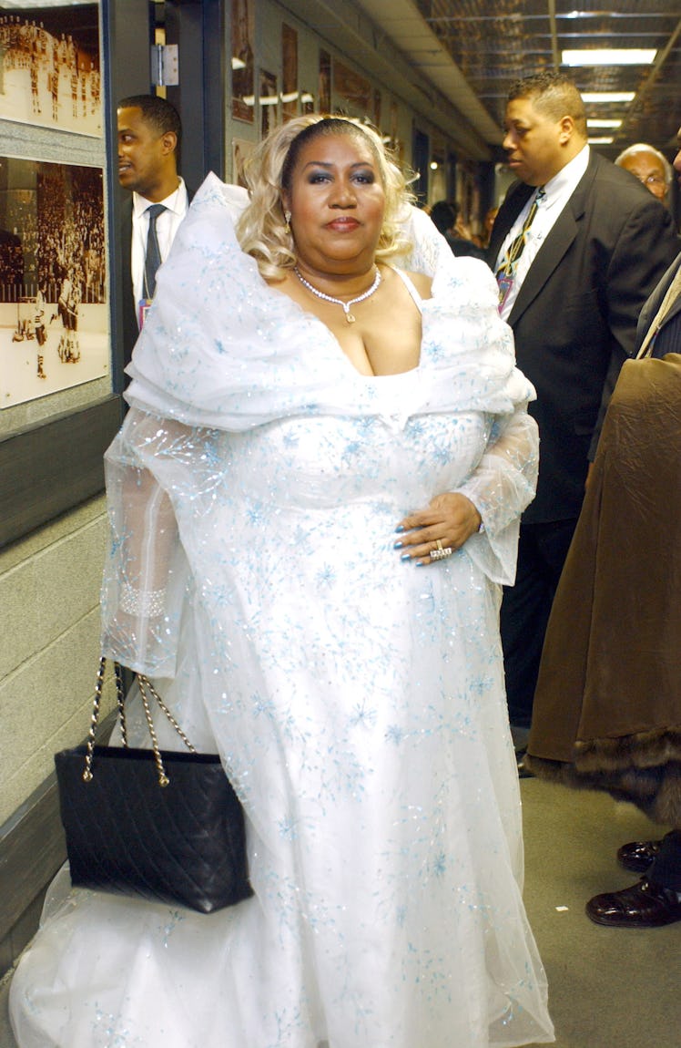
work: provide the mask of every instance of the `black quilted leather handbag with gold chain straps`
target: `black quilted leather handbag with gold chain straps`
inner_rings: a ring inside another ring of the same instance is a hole
[[[87,744],[54,756],[71,882],[212,913],[252,895],[244,818],[220,758],[197,754],[162,699],[138,675],[152,749],[128,746],[115,667],[123,746],[95,746],[104,658]],[[160,750],[150,709],[159,704],[189,752]]]

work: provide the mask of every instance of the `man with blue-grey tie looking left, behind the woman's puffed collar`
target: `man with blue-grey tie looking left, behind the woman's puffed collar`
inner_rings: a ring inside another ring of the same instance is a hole
[[[118,181],[131,194],[122,211],[124,350],[132,350],[153,298],[145,270],[149,208],[162,205],[155,219],[162,261],[186,214],[192,194],[178,174],[182,128],[174,106],[155,94],[135,94],[118,103]]]

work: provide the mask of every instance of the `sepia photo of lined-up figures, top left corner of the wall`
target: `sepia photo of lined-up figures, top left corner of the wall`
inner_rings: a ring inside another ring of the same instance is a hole
[[[102,136],[96,3],[0,3],[0,119]]]

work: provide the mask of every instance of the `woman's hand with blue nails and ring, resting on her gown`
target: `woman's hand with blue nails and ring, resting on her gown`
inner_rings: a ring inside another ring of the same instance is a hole
[[[459,549],[480,529],[481,523],[480,514],[465,495],[456,492],[436,495],[427,509],[419,509],[399,522],[400,537],[395,548],[402,551],[403,561],[435,564],[431,560],[433,550]]]

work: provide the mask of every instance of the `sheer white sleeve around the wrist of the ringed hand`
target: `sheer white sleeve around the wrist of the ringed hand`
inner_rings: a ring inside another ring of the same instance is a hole
[[[458,490],[477,507],[484,530],[468,539],[466,551],[497,583],[512,585],[520,517],[534,498],[539,467],[536,422],[519,406],[496,416],[480,463]]]

